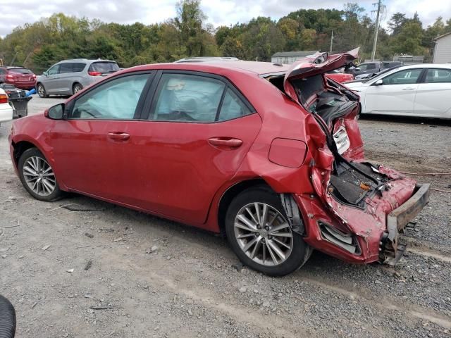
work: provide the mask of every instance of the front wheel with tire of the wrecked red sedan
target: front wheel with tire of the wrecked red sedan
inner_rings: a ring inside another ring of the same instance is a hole
[[[30,148],[23,152],[18,170],[20,182],[35,199],[51,202],[62,196],[53,169],[38,149]]]

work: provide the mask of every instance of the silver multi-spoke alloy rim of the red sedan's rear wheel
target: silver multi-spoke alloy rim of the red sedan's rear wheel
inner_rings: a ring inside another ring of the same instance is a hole
[[[268,204],[243,206],[235,217],[234,233],[240,249],[261,265],[279,265],[292,252],[291,227],[285,217]]]

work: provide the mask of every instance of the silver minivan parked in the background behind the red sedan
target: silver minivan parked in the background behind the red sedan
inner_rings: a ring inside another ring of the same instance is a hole
[[[36,91],[41,97],[72,95],[118,70],[118,64],[109,60],[74,58],[60,61],[37,77]]]

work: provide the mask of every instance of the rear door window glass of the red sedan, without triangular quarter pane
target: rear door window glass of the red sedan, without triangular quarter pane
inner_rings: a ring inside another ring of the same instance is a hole
[[[211,77],[163,74],[149,119],[213,122],[225,87]]]

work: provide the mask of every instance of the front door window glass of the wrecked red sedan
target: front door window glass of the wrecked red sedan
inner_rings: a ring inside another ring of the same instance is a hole
[[[101,84],[75,101],[71,118],[131,120],[148,78],[129,75]]]

